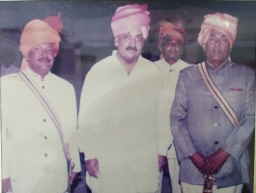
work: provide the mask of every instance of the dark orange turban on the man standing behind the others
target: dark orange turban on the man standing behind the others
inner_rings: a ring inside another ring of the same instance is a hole
[[[167,20],[162,20],[159,22],[159,38],[158,38],[158,46],[161,44],[162,42],[162,38],[166,35],[170,35],[173,36],[177,39],[179,39],[180,41],[182,41],[182,43],[184,43],[185,41],[185,29],[182,25],[182,23],[171,23]]]

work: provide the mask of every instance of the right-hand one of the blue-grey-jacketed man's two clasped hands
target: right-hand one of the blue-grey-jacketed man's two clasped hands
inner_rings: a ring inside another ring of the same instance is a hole
[[[204,172],[206,174],[216,174],[222,165],[225,163],[229,156],[229,153],[219,149],[217,152],[214,152],[211,156],[207,157],[209,160],[208,163],[204,166]]]

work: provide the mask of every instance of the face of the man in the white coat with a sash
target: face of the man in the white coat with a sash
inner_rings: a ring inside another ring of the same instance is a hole
[[[42,43],[34,46],[25,56],[28,67],[44,77],[54,63],[53,43]]]

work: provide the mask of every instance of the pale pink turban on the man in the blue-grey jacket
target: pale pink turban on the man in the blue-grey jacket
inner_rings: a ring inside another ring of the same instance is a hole
[[[227,36],[232,48],[238,31],[238,19],[229,14],[207,14],[202,23],[201,31],[198,35],[198,42],[204,47],[208,41],[212,30],[217,30]]]

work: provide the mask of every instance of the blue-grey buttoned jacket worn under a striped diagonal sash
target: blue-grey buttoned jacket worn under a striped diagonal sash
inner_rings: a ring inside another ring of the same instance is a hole
[[[203,184],[202,174],[189,156],[199,152],[209,156],[223,149],[230,156],[214,175],[217,187],[248,182],[246,147],[252,137],[255,115],[255,71],[227,62],[220,69],[207,69],[215,86],[228,100],[240,124],[234,128],[206,87],[197,66],[183,69],[171,109],[171,129],[178,158],[180,179]]]

